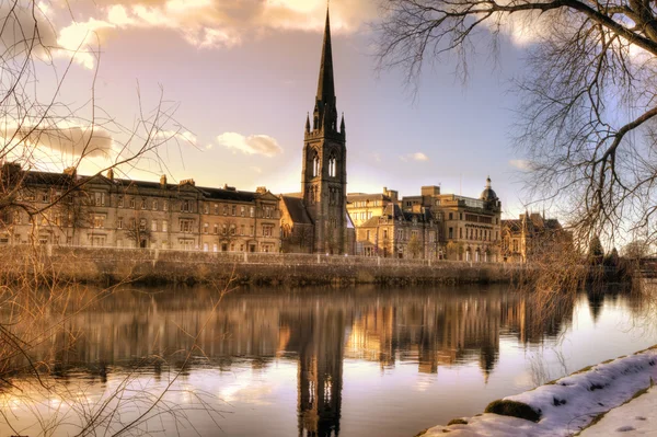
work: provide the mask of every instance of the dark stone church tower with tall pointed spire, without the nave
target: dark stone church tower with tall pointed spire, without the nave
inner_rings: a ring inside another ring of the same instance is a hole
[[[326,27],[312,119],[306,119],[301,193],[314,222],[316,253],[348,253],[347,148],[345,118],[337,124],[331,24]]]

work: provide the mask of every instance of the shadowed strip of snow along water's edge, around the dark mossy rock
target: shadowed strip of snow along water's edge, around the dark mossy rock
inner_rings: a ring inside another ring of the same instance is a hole
[[[429,428],[423,437],[443,436],[445,432],[454,437],[569,436],[589,425],[600,413],[623,404],[636,392],[649,387],[650,378],[657,381],[656,348],[600,364],[534,390],[504,398],[523,402],[540,412],[541,419],[538,423],[485,413],[464,417],[468,425]],[[657,411],[654,414],[657,415]],[[634,426],[634,423],[626,421],[620,426]]]

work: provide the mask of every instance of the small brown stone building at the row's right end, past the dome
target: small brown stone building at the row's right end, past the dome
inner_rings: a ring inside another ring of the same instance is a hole
[[[521,214],[517,220],[502,220],[504,261],[527,263],[544,254],[557,255],[569,245],[570,235],[558,220],[540,214]]]

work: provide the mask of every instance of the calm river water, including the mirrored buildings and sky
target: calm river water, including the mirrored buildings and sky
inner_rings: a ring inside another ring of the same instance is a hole
[[[657,344],[645,306],[504,286],[122,289],[0,389],[0,436],[406,436]],[[215,309],[214,309],[215,308]],[[44,386],[49,390],[45,390]],[[151,407],[154,400],[160,400]]]

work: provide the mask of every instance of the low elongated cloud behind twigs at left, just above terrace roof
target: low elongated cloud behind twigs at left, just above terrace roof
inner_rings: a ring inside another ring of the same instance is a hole
[[[4,141],[27,148],[47,148],[69,157],[108,158],[114,143],[105,129],[60,124],[59,126],[4,126]]]

